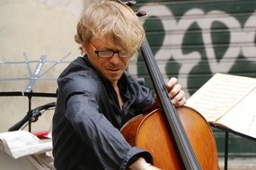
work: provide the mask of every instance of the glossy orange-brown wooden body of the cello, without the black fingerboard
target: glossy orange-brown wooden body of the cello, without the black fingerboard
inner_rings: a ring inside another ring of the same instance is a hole
[[[160,108],[153,105],[146,108],[145,112],[147,114],[137,115],[123,126],[121,132],[126,140],[132,146],[149,151],[153,156],[154,166],[163,170],[185,169]],[[177,114],[201,169],[219,169],[216,141],[207,121],[187,106],[178,107]]]

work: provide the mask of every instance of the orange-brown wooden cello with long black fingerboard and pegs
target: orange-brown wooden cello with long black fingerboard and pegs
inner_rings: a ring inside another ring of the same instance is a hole
[[[128,6],[134,1],[126,3]],[[145,15],[137,12],[137,16]],[[131,146],[149,151],[154,166],[164,170],[219,169],[216,142],[207,121],[196,110],[172,106],[153,52],[145,39],[141,46],[159,102],[124,124],[121,132]]]

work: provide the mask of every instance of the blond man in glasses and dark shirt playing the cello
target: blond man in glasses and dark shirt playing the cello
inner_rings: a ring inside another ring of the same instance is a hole
[[[53,117],[53,155],[57,169],[158,169],[146,150],[131,147],[119,129],[154,103],[152,93],[128,72],[145,31],[136,14],[118,1],[93,4],[77,24],[78,57],[59,76]],[[184,92],[171,79],[174,106]],[[149,164],[150,163],[150,164]]]

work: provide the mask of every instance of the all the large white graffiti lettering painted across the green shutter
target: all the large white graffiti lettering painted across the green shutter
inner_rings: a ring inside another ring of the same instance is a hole
[[[198,8],[190,9],[187,13],[184,13],[179,21],[176,21],[170,9],[165,5],[148,4],[142,6],[141,10],[146,11],[147,18],[156,16],[162,21],[165,36],[163,46],[157,51],[155,58],[158,61],[167,61],[172,57],[178,62],[181,61],[181,69],[178,78],[182,80],[182,85],[185,88],[188,83],[186,75],[188,75],[201,60],[201,55],[198,51],[190,52],[190,54],[182,53],[184,36],[193,23],[197,23],[202,30],[201,34],[211,72],[229,72],[240,54],[243,54],[244,57],[255,57],[256,47],[254,38],[256,34],[256,12],[252,13],[252,16],[242,27],[234,16],[217,10],[205,13]],[[216,59],[216,51],[212,42],[211,31],[213,30],[212,26],[215,21],[223,23],[230,32],[230,39],[228,39],[229,45],[225,54],[219,57],[220,60]],[[169,48],[167,49],[166,47]],[[188,60],[192,62],[186,62]],[[163,75],[166,75],[163,65],[160,65],[160,70]],[[137,73],[137,71],[135,73]]]

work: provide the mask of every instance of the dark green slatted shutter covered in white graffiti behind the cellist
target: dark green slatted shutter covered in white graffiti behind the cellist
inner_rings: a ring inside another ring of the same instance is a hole
[[[163,78],[177,77],[188,98],[216,72],[256,78],[254,0],[143,0],[137,6],[147,13],[141,21]],[[129,72],[152,88],[142,57]],[[224,132],[214,132],[223,156]],[[255,144],[231,134],[229,155],[256,157]]]

